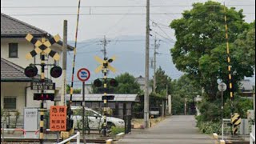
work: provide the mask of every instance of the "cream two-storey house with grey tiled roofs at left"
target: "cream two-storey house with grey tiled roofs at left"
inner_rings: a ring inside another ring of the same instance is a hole
[[[39,91],[31,90],[32,78],[27,78],[24,74],[26,66],[30,63],[41,63],[39,54],[30,60],[26,59],[26,54],[34,50],[34,45],[25,38],[28,33],[38,39],[52,38],[52,35],[44,30],[1,14],[1,107],[5,110],[18,110],[21,114],[24,107],[40,107],[40,101],[33,99],[34,93]],[[62,58],[62,42],[57,42],[50,48],[57,51]],[[68,46],[68,50],[73,50],[73,47]],[[62,59],[54,62],[53,58],[46,55],[46,64],[54,63],[62,66]],[[57,95],[61,90],[62,77],[52,78],[50,68],[46,66],[45,75],[48,80],[56,83],[56,90],[50,92]],[[41,67],[38,66],[38,74],[40,71]],[[36,76],[33,81],[39,78]],[[53,104],[54,102],[47,101],[45,106],[49,108]]]

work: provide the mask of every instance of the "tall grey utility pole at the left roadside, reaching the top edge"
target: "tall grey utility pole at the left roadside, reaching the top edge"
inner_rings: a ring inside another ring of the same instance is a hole
[[[145,95],[144,125],[149,128],[149,70],[150,65],[150,0],[146,0],[146,61],[145,61]]]

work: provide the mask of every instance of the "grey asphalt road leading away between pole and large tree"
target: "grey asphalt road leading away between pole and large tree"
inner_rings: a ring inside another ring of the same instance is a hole
[[[195,127],[194,116],[172,116],[147,130],[133,131],[119,140],[118,144],[213,144],[210,135],[200,134]]]

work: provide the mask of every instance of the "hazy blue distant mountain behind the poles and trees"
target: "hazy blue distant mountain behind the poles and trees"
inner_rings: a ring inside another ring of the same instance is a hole
[[[133,74],[134,77],[139,77],[140,75],[145,75],[145,37],[144,36],[121,36],[114,39],[107,39],[108,45],[106,46],[107,57],[111,58],[116,56],[116,60],[111,63],[111,66],[117,69],[117,73],[113,74],[110,72],[109,77],[116,77],[119,74],[128,72]],[[75,81],[78,81],[76,78],[76,72],[82,67],[86,67],[91,72],[91,78],[89,82],[93,82],[96,78],[102,78],[102,74],[95,74],[94,70],[99,66],[99,63],[94,60],[94,56],[97,55],[100,58],[103,58],[101,45],[102,38],[95,38],[86,40],[84,42],[78,42],[77,45],[77,55],[75,59]],[[70,42],[72,45],[74,42]],[[154,53],[154,39],[150,39],[150,58],[153,58]],[[182,75],[182,72],[178,71],[172,59],[170,57],[170,48],[174,44],[167,41],[160,41],[160,47],[157,50],[157,67],[161,66],[162,70],[166,71],[171,78],[177,79]],[[68,81],[71,81],[72,73],[72,63],[73,63],[73,52],[69,52],[67,55],[67,77]],[[150,68],[150,78],[152,78],[153,69]],[[70,82],[68,82],[70,83]],[[87,82],[88,83],[88,82]],[[75,82],[74,86],[80,86],[79,82]]]

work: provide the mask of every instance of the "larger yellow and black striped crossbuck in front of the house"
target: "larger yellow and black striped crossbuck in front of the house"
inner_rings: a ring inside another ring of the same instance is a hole
[[[35,55],[45,52],[46,54],[49,54],[50,57],[54,58],[55,61],[58,61],[60,56],[59,54],[50,49],[50,46],[52,46],[54,43],[58,42],[60,40],[60,36],[57,34],[54,36],[54,38],[50,38],[48,41],[41,42],[38,39],[34,38],[33,35],[27,34],[26,40],[34,44],[35,48],[32,50],[29,54],[26,54],[26,59],[31,59]]]

